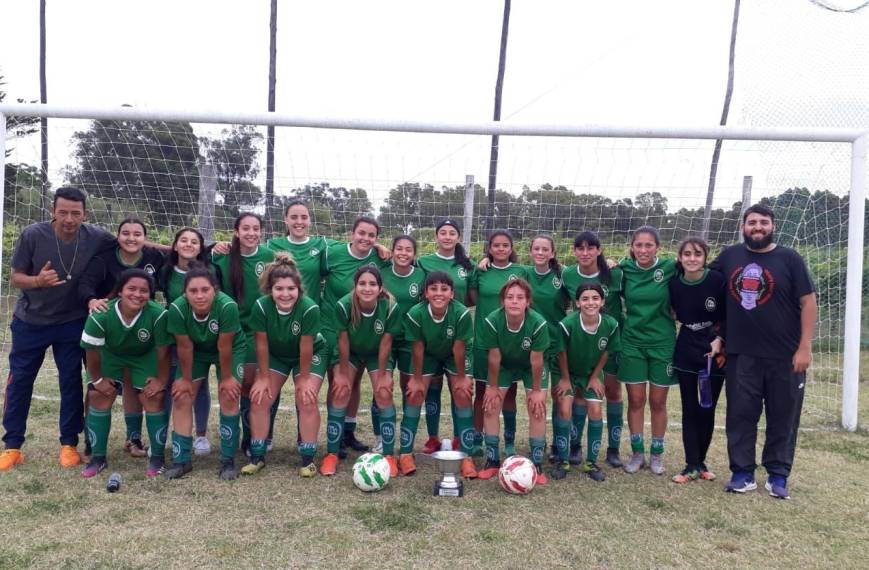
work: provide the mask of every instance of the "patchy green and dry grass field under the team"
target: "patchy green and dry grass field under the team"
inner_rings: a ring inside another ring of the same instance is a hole
[[[36,392],[55,397],[53,383],[43,375]],[[869,384],[861,388],[865,425]],[[284,398],[283,406],[291,405],[290,392]],[[671,483],[682,457],[676,427],[667,436],[665,477],[606,468],[607,481],[595,483],[574,471],[524,497],[506,495],[494,481],[471,481],[466,497],[445,499],[431,496],[434,466],[421,455],[415,476],[377,494],[353,486],[349,461],[334,478],[300,479],[288,411],[279,416],[277,448],[259,475],[218,481],[211,455],[196,458],[183,480],[148,481],[144,460],[121,450],[116,407],[110,471],[125,480],[121,492],[108,494],[108,472],[84,480],[78,469],[58,466],[57,405],[34,401],[27,462],[0,475],[0,568],[858,568],[869,560],[865,430],[804,422],[810,427],[800,434],[791,501],[762,490],[722,491],[728,475],[722,430],[709,461],[719,481]],[[679,415],[676,391],[670,416],[678,422]],[[523,417],[520,453],[527,452]],[[216,413],[213,443],[215,421]],[[442,431],[447,425],[443,418]],[[369,439],[369,429],[369,416],[360,414],[361,437]],[[758,475],[762,485],[765,474]]]

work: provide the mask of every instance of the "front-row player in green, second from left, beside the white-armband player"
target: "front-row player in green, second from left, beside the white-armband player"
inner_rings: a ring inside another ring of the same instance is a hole
[[[220,401],[221,479],[235,479],[235,452],[239,439],[239,399],[247,346],[238,316],[238,304],[218,290],[217,278],[202,264],[192,264],[184,276],[184,296],[169,305],[169,334],[175,335],[178,371],[172,385],[173,467],[166,477],[177,479],[193,469],[194,386],[217,367]]]

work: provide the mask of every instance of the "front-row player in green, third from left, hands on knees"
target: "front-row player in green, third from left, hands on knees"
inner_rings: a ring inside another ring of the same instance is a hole
[[[326,340],[319,333],[320,307],[304,295],[302,277],[286,253],[276,253],[275,261],[266,266],[260,290],[266,295],[257,299],[250,313],[258,365],[250,389],[250,463],[241,472],[253,475],[265,466],[272,404],[292,374],[301,434],[299,474],[313,477],[320,430],[317,400],[328,362]]]

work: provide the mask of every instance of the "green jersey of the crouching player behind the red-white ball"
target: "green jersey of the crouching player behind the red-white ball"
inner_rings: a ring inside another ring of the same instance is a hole
[[[477,348],[501,351],[501,368],[513,371],[531,370],[531,353],[549,348],[549,326],[546,319],[533,309],[525,313],[525,320],[516,330],[507,326],[507,313],[497,309],[484,319],[483,329],[477,336]]]

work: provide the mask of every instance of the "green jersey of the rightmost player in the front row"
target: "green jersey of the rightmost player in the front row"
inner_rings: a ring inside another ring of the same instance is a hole
[[[580,313],[573,312],[559,323],[558,351],[567,353],[571,378],[587,380],[604,352],[619,352],[619,323],[609,315],[598,315],[597,328],[587,330]],[[559,371],[560,372],[560,371]]]

